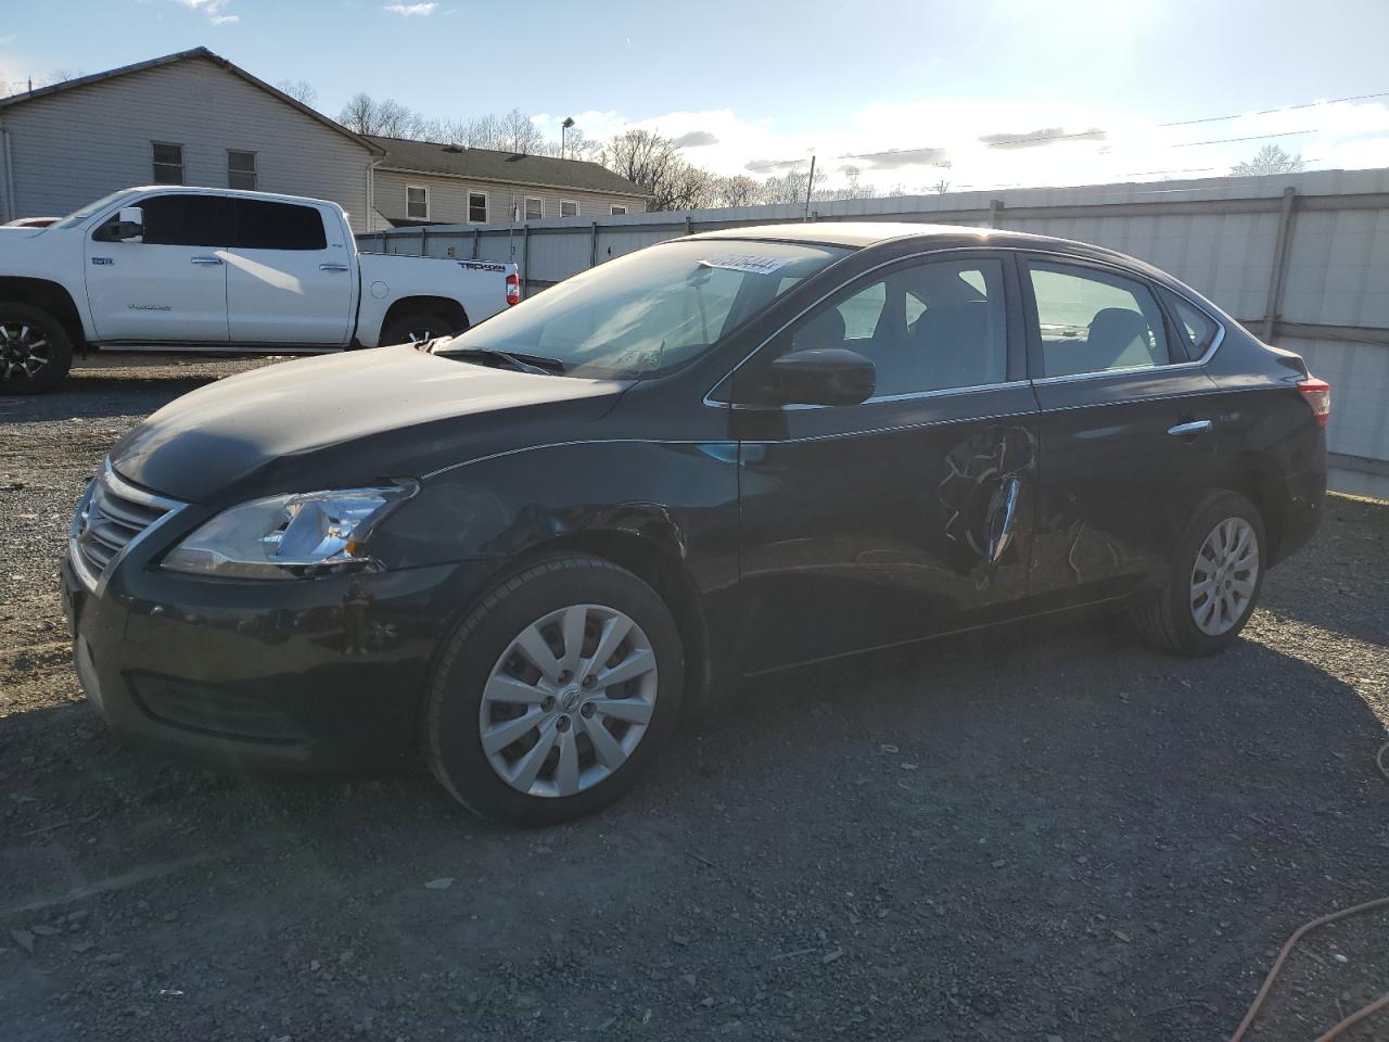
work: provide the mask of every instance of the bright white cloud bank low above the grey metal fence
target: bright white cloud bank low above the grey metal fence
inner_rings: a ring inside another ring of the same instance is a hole
[[[1222,115],[1220,107],[1193,115]],[[1314,108],[1240,115],[1217,122],[1158,126],[1097,106],[982,101],[958,97],[870,101],[847,118],[814,131],[789,129],[754,108],[735,111],[574,113],[583,136],[607,142],[631,129],[657,131],[679,140],[708,133],[717,140],[688,153],[715,174],[757,178],[804,172],[811,154],[829,186],[843,185],[847,168],[858,183],[883,193],[901,189],[929,195],[939,181],[951,190],[1021,186],[1103,185],[1221,176],[1258,151],[1263,135],[1310,169],[1389,167],[1389,106],[1333,103]],[[556,118],[536,119],[558,140]],[[1032,128],[1008,131],[1007,128]],[[1079,128],[1067,131],[1065,128]],[[1064,138],[1054,138],[1064,133]],[[1249,138],[1251,140],[1226,140]],[[1043,140],[1046,139],[1046,140]],[[1011,144],[1011,142],[1021,142]],[[1067,147],[1042,147],[1065,144]],[[949,168],[943,164],[949,163]]]

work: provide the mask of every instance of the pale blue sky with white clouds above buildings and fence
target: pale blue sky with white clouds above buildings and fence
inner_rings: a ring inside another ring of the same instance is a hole
[[[0,0],[0,81],[196,46],[428,117],[632,126],[720,174],[890,190],[1389,167],[1389,0]],[[1354,99],[1354,100],[1338,100]],[[949,164],[949,165],[947,165]]]

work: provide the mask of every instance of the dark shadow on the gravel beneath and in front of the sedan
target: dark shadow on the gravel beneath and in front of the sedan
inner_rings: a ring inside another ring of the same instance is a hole
[[[94,909],[149,978],[218,966],[228,1025],[283,1004],[285,950],[350,946],[354,1002],[450,967],[483,998],[421,991],[415,1016],[496,1035],[519,989],[556,1032],[664,1002],[703,1036],[728,1016],[713,993],[813,1034],[954,1038],[983,1016],[996,1038],[1197,1038],[1239,1020],[1297,924],[1382,885],[1383,725],[1254,640],[1185,660],[1056,617],[725,696],[621,803],[543,832],[481,825],[415,774],[213,774],[125,749],[82,704],[15,711],[0,925]],[[64,966],[32,986],[71,986]],[[868,1031],[872,993],[892,1002]]]

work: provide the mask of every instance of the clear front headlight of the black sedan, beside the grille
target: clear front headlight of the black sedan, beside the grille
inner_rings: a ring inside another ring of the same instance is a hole
[[[367,565],[371,529],[418,489],[401,482],[242,503],[183,539],[163,567],[233,579],[293,579],[324,567]]]

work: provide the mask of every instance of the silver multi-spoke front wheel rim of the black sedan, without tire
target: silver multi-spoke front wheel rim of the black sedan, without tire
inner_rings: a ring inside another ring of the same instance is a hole
[[[488,677],[482,752],[507,785],[572,796],[626,763],[656,711],[656,652],[629,615],[572,604],[522,629]]]

